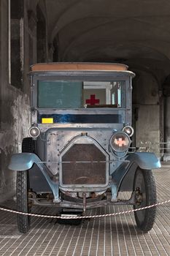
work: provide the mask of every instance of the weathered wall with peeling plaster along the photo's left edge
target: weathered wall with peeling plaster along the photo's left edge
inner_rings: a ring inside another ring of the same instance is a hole
[[[19,1],[15,1],[15,4]],[[30,127],[29,65],[36,63],[36,5],[29,10],[28,1],[23,1],[23,34],[20,55],[22,58],[22,79],[20,84],[10,83],[9,65],[9,6],[7,0],[0,1],[0,201],[15,193],[15,172],[8,170],[11,154],[21,151],[24,137]],[[31,15],[30,15],[31,14]],[[29,39],[31,38],[31,39]],[[46,38],[45,38],[46,39]],[[29,42],[32,42],[29,44]],[[46,43],[46,42],[45,42]],[[12,49],[15,50],[15,49]],[[15,74],[14,74],[15,75]],[[12,79],[15,83],[15,79]]]

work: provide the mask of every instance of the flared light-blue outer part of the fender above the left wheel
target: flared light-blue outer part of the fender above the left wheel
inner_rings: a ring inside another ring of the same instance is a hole
[[[13,154],[9,162],[9,170],[29,170],[34,165],[41,162],[39,157],[33,153]]]

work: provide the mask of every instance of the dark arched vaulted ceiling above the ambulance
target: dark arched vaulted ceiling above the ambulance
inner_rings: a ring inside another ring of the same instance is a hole
[[[39,1],[59,61],[122,62],[159,83],[169,75],[169,0]]]

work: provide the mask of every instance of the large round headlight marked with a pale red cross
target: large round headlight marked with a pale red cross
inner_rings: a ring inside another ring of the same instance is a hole
[[[110,146],[115,152],[125,152],[131,144],[129,136],[125,132],[116,132],[110,139]]]

